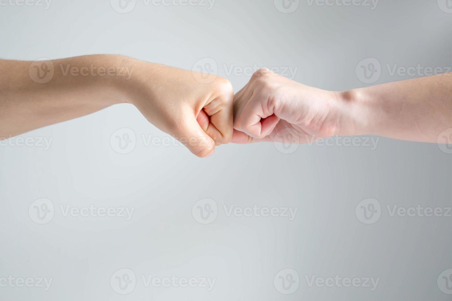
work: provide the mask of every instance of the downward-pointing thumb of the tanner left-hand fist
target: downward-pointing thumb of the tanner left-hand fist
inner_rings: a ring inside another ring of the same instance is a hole
[[[184,125],[176,135],[179,142],[198,157],[208,157],[215,152],[215,142],[202,130],[194,116],[184,121]]]

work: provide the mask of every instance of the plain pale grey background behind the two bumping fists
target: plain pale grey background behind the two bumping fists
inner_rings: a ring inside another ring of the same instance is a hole
[[[0,57],[36,60],[123,54],[192,69],[210,57],[235,91],[248,76],[223,65],[298,67],[295,80],[346,90],[364,87],[358,63],[452,66],[452,14],[436,0],[381,0],[365,6],[319,6],[302,0],[285,14],[273,0],[217,0],[201,6],[146,6],[119,14],[108,0],[54,0],[0,6]],[[110,137],[137,134],[132,153]],[[52,137],[40,147],[0,147],[0,278],[53,278],[39,287],[0,287],[0,300],[452,300],[437,278],[452,268],[452,218],[390,217],[386,205],[452,206],[452,155],[437,144],[380,139],[377,148],[302,145],[278,152],[272,143],[226,145],[198,159],[183,147],[146,147],[141,135],[165,137],[136,108],[117,105],[24,137]],[[439,134],[439,133],[438,133]],[[55,205],[51,222],[28,215],[36,199]],[[192,207],[212,198],[217,219],[198,223]],[[359,202],[376,198],[381,218],[366,225]],[[124,218],[64,217],[60,205],[134,207]],[[223,204],[297,207],[283,217],[227,217]],[[132,269],[136,288],[117,294],[110,277]],[[291,295],[274,276],[300,276]],[[144,287],[141,275],[216,277],[214,289]],[[305,276],[380,278],[366,287],[309,287]]]

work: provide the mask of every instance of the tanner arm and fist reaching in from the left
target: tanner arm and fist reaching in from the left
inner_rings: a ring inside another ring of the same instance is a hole
[[[198,157],[210,156],[216,145],[231,141],[234,92],[226,79],[206,79],[205,74],[125,56],[79,56],[37,64],[0,60],[3,139],[127,102]],[[53,77],[40,82],[37,70],[44,74],[52,64]],[[104,69],[90,71],[93,66]]]

